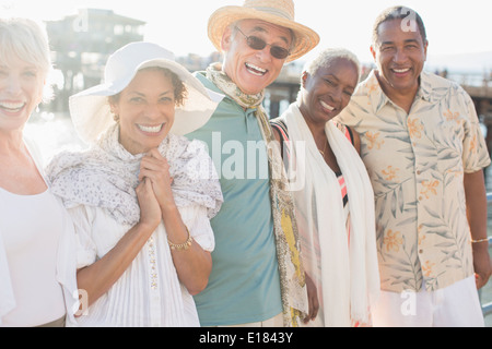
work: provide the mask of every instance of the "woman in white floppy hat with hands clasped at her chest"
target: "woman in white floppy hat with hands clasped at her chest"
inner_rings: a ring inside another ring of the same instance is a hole
[[[69,325],[199,325],[191,294],[208,282],[222,193],[204,146],[183,134],[221,98],[150,43],[116,51],[104,83],[70,98],[92,147],[48,167],[77,227],[81,308]]]

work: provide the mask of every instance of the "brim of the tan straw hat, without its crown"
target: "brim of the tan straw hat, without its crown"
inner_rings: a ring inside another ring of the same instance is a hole
[[[209,38],[219,51],[222,51],[221,40],[225,28],[232,23],[241,20],[260,20],[292,29],[295,35],[295,47],[286,58],[288,62],[303,57],[319,44],[319,35],[316,32],[289,19],[283,19],[279,15],[269,14],[255,9],[223,7],[212,13],[208,25]]]

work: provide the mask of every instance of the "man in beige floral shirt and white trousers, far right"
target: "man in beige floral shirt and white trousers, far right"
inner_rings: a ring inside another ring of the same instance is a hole
[[[473,103],[423,72],[427,40],[414,11],[383,12],[371,50],[377,68],[340,121],[361,135],[375,192],[384,292],[374,325],[483,326],[490,157]]]

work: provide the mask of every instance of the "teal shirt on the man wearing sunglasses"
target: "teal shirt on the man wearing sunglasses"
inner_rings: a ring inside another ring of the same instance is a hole
[[[202,74],[196,76],[222,93]],[[195,297],[201,326],[245,324],[282,312],[266,145],[255,109],[225,97],[201,129],[224,203],[211,219],[215,236],[209,284]]]

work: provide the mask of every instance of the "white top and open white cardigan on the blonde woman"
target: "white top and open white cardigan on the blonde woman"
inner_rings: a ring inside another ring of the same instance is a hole
[[[40,156],[25,144],[44,177]],[[73,230],[50,189],[17,195],[0,188],[0,326],[37,326],[77,308],[70,249]],[[66,253],[67,252],[67,253]]]

